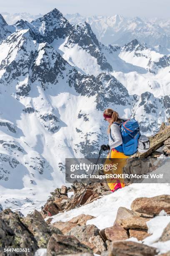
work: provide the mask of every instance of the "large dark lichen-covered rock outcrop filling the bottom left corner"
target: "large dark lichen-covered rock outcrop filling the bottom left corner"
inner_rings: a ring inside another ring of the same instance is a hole
[[[0,212],[0,245],[2,247],[31,248],[31,252],[25,255],[34,255],[38,248],[47,247],[52,234],[62,235],[62,232],[58,228],[47,225],[40,212],[36,210],[26,218],[20,217],[10,209]]]

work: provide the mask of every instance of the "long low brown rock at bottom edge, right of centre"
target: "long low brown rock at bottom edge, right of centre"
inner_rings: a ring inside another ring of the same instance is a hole
[[[109,256],[154,256],[156,248],[132,241],[115,241],[109,247]]]

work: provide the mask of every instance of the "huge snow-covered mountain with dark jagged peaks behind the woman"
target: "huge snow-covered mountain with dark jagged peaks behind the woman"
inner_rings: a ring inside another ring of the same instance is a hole
[[[65,158],[98,154],[102,111],[153,134],[170,113],[170,55],[133,40],[105,46],[57,9],[8,28],[0,20],[0,204],[28,212],[65,182]],[[32,205],[32,206],[31,206]]]

